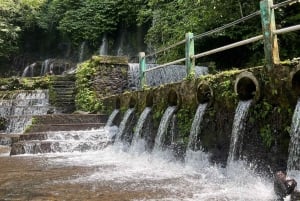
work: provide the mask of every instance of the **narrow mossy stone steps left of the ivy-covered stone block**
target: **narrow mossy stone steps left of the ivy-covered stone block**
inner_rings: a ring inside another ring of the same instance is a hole
[[[75,75],[51,77],[50,103],[57,112],[72,113],[75,110]]]

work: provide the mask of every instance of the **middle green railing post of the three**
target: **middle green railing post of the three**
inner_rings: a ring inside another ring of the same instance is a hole
[[[191,58],[195,55],[194,48],[194,35],[193,33],[187,33],[185,35],[186,43],[185,43],[185,66],[186,66],[186,74],[188,78],[192,78],[195,76],[195,58]]]

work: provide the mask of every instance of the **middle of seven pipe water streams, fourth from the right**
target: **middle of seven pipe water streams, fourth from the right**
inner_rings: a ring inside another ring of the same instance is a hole
[[[175,110],[176,106],[169,106],[161,118],[153,148],[155,151],[162,149],[165,143],[165,137],[169,127],[169,123],[173,117],[173,114],[175,113]]]

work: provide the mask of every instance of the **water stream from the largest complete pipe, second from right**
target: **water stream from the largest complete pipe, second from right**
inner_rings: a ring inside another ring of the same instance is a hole
[[[227,163],[237,160],[240,157],[245,120],[251,103],[252,100],[239,101],[235,110]]]

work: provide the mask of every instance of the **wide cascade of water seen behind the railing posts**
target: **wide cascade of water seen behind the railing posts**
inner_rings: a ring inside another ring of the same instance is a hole
[[[157,64],[147,64],[147,69],[153,68]],[[137,90],[140,88],[139,64],[130,63],[128,67],[129,88]],[[208,73],[207,67],[195,67],[196,77]],[[170,65],[146,73],[146,85],[158,86],[166,83],[178,82],[186,77],[186,68],[182,65]]]

